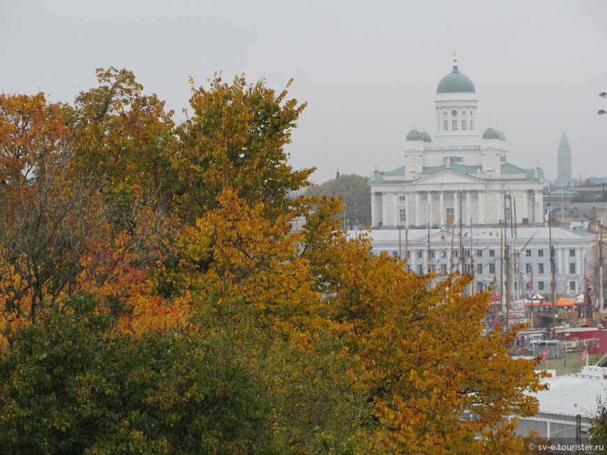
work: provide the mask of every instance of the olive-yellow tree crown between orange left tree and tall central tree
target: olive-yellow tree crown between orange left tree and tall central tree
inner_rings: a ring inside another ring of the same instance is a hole
[[[165,208],[172,201],[170,157],[173,111],[156,94],[144,95],[133,72],[97,71],[98,86],[75,99],[75,169],[103,184],[108,196]]]

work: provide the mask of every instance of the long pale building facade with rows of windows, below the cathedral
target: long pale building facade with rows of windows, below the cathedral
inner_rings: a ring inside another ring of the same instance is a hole
[[[348,231],[350,236],[355,231]],[[518,228],[516,240],[510,229],[478,226],[449,231],[430,229],[376,229],[370,233],[373,254],[407,259],[412,271],[448,275],[456,270],[472,272],[474,288],[481,290],[502,280],[502,248],[513,259],[515,296],[527,297],[533,290],[550,298],[550,249],[548,228]],[[503,237],[502,237],[503,236]],[[461,240],[461,242],[460,242]],[[555,291],[559,297],[574,297],[583,290],[584,270],[590,274],[595,238],[566,229],[552,228],[555,248]],[[428,246],[429,245],[429,246]],[[461,261],[463,251],[464,261]],[[505,253],[504,253],[505,254]],[[472,270],[471,270],[472,268]],[[497,291],[499,293],[499,291]]]

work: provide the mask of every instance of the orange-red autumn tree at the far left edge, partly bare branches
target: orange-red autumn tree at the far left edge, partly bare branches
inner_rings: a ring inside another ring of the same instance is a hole
[[[142,192],[112,196],[110,171],[80,167],[77,116],[43,94],[0,96],[0,334],[82,293],[126,316],[166,303],[149,274],[170,250],[170,213]]]

